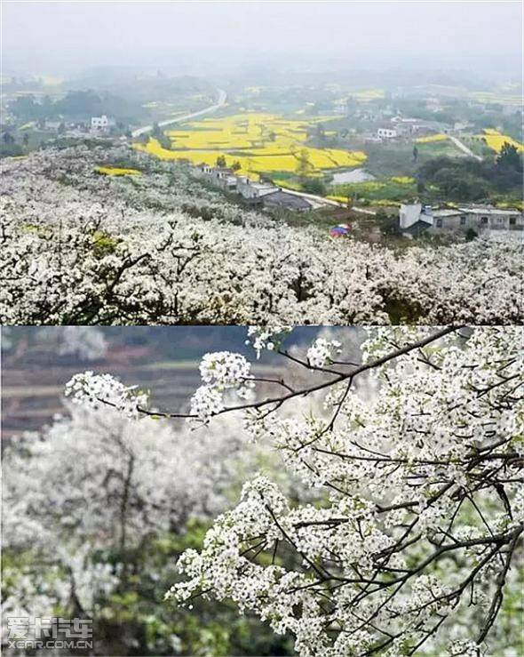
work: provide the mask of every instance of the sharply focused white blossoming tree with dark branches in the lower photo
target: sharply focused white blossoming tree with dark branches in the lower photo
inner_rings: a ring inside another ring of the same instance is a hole
[[[246,483],[202,549],[179,559],[186,580],[167,596],[233,600],[292,633],[303,657],[521,652],[511,624],[524,529],[521,330],[379,329],[351,363],[325,339],[290,355],[285,327],[274,333],[251,329],[250,341],[304,368],[308,385],[274,380],[280,393],[250,398],[249,362],[226,352],[202,361],[189,413],[153,411],[98,376],[71,383],[76,402],[137,417],[212,428],[242,413],[253,439],[270,439],[322,493],[300,504],[268,477]],[[355,388],[362,377],[370,397]]]

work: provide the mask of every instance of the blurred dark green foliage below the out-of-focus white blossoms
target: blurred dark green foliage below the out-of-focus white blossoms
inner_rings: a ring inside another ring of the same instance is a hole
[[[93,636],[107,654],[173,653],[211,655],[290,655],[290,637],[277,637],[263,623],[250,616],[239,616],[234,605],[195,599],[194,609],[182,609],[164,601],[165,592],[178,581],[175,564],[188,548],[202,547],[208,529],[190,520],[185,532],[152,536],[140,549],[99,550],[95,561],[111,565],[120,572],[119,586],[97,599]],[[4,549],[4,594],[20,586],[19,578],[36,569],[37,579],[44,571],[38,556],[30,551]],[[49,569],[49,583],[56,573]],[[54,612],[67,617],[71,609]],[[174,643],[173,643],[174,642]]]

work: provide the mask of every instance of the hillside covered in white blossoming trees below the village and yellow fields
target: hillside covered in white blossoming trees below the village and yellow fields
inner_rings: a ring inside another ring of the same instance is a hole
[[[2,324],[520,323],[522,247],[333,240],[125,146],[4,161]],[[100,169],[99,167],[103,167]],[[136,170],[104,175],[107,167]]]

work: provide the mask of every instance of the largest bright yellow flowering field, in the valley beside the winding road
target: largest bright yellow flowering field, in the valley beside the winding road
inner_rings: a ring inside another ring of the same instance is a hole
[[[302,172],[314,176],[359,166],[366,159],[362,151],[306,146],[315,126],[332,118],[297,120],[258,112],[206,118],[165,132],[171,148],[164,148],[153,138],[147,144],[136,144],[136,148],[162,159],[186,159],[194,164],[216,164],[223,156],[226,166],[235,165],[238,172],[255,179],[265,173]]]

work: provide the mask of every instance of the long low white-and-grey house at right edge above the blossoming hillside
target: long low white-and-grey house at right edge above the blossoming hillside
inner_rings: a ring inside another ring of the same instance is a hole
[[[524,216],[519,210],[492,205],[461,204],[453,208],[431,208],[420,203],[401,204],[399,227],[402,234],[416,236],[428,230],[433,235],[466,233],[524,237]]]

